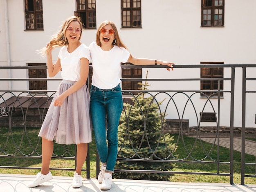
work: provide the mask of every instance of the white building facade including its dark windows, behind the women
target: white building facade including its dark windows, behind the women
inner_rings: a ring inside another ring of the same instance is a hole
[[[0,66],[45,65],[37,50],[45,47],[69,16],[81,16],[85,24],[81,42],[89,45],[96,40],[96,31],[104,20],[112,20],[119,29],[119,35],[130,53],[139,58],[167,60],[176,65],[196,64],[255,64],[256,63],[256,1],[247,0],[0,0]],[[59,49],[54,49],[53,58]],[[146,78],[147,69],[141,70]],[[148,69],[148,78],[204,78],[230,77],[231,71],[213,69],[182,69],[174,71]],[[239,79],[241,71],[236,71],[235,121],[241,126],[241,97]],[[248,71],[254,76],[256,70]],[[122,78],[120,73],[120,78]],[[131,75],[131,74],[129,74]],[[2,70],[1,78],[47,77],[46,71]],[[58,74],[55,78],[61,78]],[[137,77],[136,77],[137,78]],[[38,89],[47,87],[56,90],[59,81],[29,84],[27,81],[1,83],[1,90]],[[215,89],[214,82],[198,83],[177,81],[166,84],[150,83],[150,89]],[[222,82],[221,89],[227,87]],[[256,88],[255,83],[250,85]],[[129,86],[128,86],[129,87]],[[256,127],[255,95],[247,100],[247,127]],[[163,98],[160,98],[164,99]],[[195,102],[205,103],[201,95]],[[213,101],[214,102],[214,101]],[[222,103],[229,105],[230,99],[222,95]],[[202,107],[201,106],[201,107]],[[225,106],[225,105],[222,105]],[[229,125],[225,107],[221,109],[221,125]],[[168,118],[172,112],[167,112]],[[197,124],[193,117],[186,116],[190,126]],[[211,125],[211,123],[208,123]],[[208,125],[207,124],[207,125]]]

